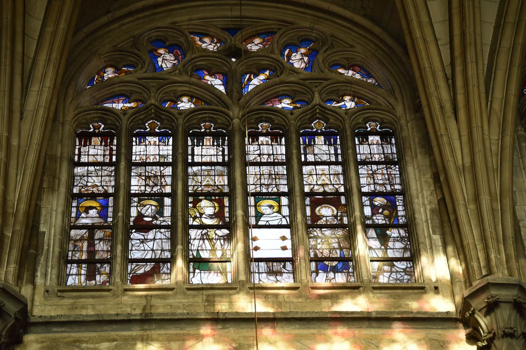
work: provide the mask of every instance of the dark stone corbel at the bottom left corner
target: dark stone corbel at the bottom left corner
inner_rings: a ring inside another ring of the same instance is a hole
[[[22,343],[27,327],[27,299],[11,284],[0,281],[0,350]]]

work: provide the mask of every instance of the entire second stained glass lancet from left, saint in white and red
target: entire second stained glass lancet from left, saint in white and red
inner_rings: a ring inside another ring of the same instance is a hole
[[[171,132],[150,120],[132,135],[128,283],[170,283]]]

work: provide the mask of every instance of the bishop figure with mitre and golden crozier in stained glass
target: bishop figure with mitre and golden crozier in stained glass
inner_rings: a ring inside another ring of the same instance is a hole
[[[197,210],[196,210],[197,209]],[[224,222],[216,216],[219,205],[212,200],[203,199],[196,208],[190,208],[190,225],[222,225]],[[228,256],[230,235],[225,229],[190,229],[190,251],[197,259],[218,259]],[[228,272],[225,263],[194,263],[195,272],[190,278],[193,283],[202,280],[200,271],[207,274],[208,283],[227,283]]]

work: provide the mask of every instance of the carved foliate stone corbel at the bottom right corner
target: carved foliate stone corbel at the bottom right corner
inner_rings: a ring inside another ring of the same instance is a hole
[[[512,277],[480,279],[464,293],[462,321],[478,349],[525,349],[526,285]]]

